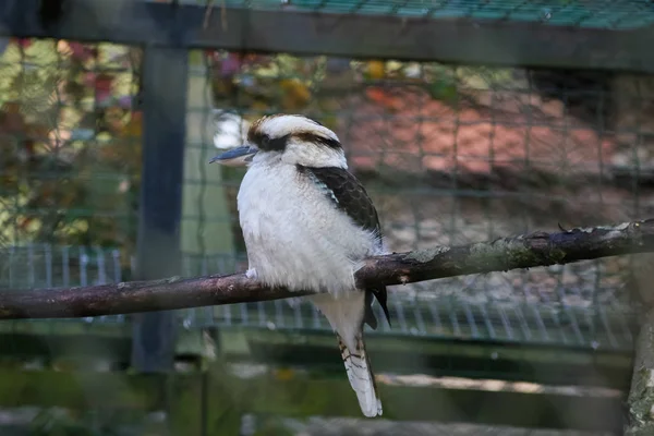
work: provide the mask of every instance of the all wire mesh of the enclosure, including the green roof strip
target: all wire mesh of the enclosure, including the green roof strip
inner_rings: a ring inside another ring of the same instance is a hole
[[[606,28],[652,21],[652,7],[637,1],[223,5]],[[131,279],[147,110],[140,104],[147,86],[141,50],[63,40],[2,44],[0,290]],[[243,171],[208,160],[274,112],[306,114],[338,134],[396,252],[623,221],[654,209],[651,76],[216,50],[194,50],[189,59],[179,235],[184,276],[246,268],[235,208]],[[632,261],[393,287],[393,324],[380,323],[371,336],[628,352],[638,308]],[[330,330],[313,306],[287,301],[179,311],[178,319],[187,331]],[[308,424],[287,424],[308,432]],[[538,434],[530,432],[522,434]]]

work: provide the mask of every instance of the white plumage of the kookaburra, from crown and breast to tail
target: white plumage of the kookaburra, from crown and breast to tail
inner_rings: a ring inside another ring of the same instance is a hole
[[[328,129],[300,117],[278,117],[262,125],[270,137],[293,130]],[[312,301],[337,331],[348,378],[365,416],[382,414],[362,337],[365,294],[356,290],[361,261],[382,254],[377,235],[339,210],[315,181],[299,177],[296,165],[347,168],[342,149],[291,141],[283,153],[259,152],[238,194],[250,270],[257,280],[290,290],[328,292]]]

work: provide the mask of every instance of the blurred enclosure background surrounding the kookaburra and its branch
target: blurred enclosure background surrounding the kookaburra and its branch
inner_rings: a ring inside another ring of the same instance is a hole
[[[243,170],[208,160],[267,113],[339,135],[396,252],[652,217],[653,22],[644,0],[8,0],[0,292],[244,270]],[[1,322],[0,434],[622,434],[649,262],[390,288],[382,420],[307,304]]]

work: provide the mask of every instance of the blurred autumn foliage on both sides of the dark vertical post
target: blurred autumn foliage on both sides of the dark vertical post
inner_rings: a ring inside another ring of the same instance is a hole
[[[9,39],[0,44],[0,245],[48,242],[133,252],[141,175],[140,49]],[[302,112],[337,128],[342,98],[393,110],[388,83],[456,105],[461,74],[434,63],[204,52],[215,107],[247,120]],[[494,74],[499,80],[510,80]],[[487,86],[488,81],[476,81]]]

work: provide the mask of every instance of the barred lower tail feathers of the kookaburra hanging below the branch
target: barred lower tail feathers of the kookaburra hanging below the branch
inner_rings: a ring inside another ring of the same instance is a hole
[[[377,384],[375,383],[371,361],[365,352],[363,331],[360,331],[359,335],[356,335],[356,350],[354,350],[354,352],[346,346],[339,334],[336,336],[338,337],[338,347],[340,348],[341,356],[346,364],[348,379],[350,380],[352,389],[356,392],[361,411],[367,417],[382,415],[382,401],[379,401],[377,395]]]

